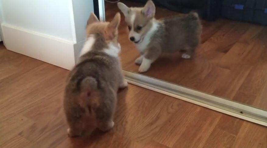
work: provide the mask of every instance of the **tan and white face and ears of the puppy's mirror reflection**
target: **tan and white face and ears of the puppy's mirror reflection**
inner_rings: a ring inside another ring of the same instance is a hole
[[[118,2],[118,7],[125,16],[129,29],[129,39],[136,44],[141,43],[152,26],[152,19],[156,12],[154,3],[149,0],[144,7],[129,8],[125,4]]]

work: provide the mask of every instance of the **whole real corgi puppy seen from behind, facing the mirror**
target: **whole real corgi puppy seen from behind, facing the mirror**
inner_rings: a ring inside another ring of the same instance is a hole
[[[70,71],[64,92],[64,111],[69,136],[81,136],[88,128],[110,130],[117,103],[117,91],[127,87],[121,72],[117,13],[109,22],[100,22],[91,13],[86,42],[79,62]]]

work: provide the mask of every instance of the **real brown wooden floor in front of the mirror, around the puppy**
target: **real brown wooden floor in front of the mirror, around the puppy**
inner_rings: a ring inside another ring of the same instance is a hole
[[[267,148],[267,128],[138,86],[118,94],[114,129],[68,138],[68,71],[0,44],[1,148]]]

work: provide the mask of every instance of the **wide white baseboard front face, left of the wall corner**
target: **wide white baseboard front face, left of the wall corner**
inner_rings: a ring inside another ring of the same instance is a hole
[[[5,46],[14,51],[64,69],[75,65],[73,41],[41,34],[10,24],[2,23]]]

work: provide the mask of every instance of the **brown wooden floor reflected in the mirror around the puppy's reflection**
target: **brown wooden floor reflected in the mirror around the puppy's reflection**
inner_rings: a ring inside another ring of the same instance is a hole
[[[142,6],[122,2],[128,6]],[[107,20],[118,11],[116,3],[106,2]],[[156,9],[156,18],[176,14]],[[202,44],[192,59],[182,59],[179,53],[163,55],[144,75],[267,110],[267,26],[227,19],[202,21],[202,24]],[[122,17],[123,69],[138,72],[139,66],[134,61],[139,54],[126,30]]]

